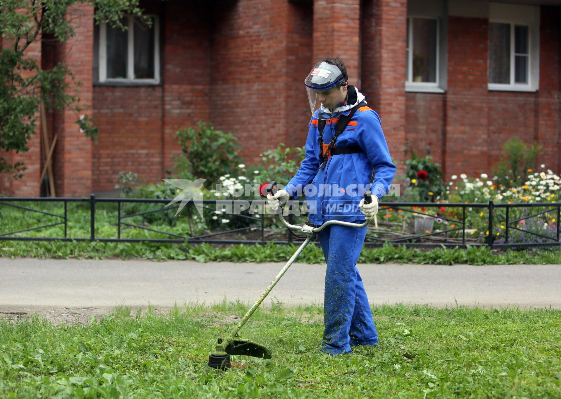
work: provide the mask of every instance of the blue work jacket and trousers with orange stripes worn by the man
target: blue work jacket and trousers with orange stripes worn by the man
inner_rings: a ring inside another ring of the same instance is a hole
[[[344,114],[350,113],[350,110]],[[380,118],[367,106],[359,108],[346,129],[338,136],[335,147],[360,146],[363,152],[331,156],[324,169],[320,166],[319,117],[328,119],[323,142],[329,143],[335,133],[338,114],[317,110],[310,120],[306,156],[300,169],[286,186],[292,197],[306,194],[310,222],[321,225],[328,220],[360,223],[364,214],[357,207],[370,189],[381,199],[389,190],[396,166],[380,126]],[[325,331],[321,350],[329,354],[351,351],[353,345],[375,345],[378,333],[356,262],[366,236],[366,228],[329,226],[319,233],[327,270],[325,273]]]

